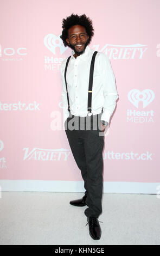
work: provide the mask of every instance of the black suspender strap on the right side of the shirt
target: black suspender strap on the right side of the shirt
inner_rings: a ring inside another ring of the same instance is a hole
[[[88,113],[92,112],[92,86],[93,86],[93,71],[94,71],[94,61],[95,61],[95,56],[98,52],[95,51],[92,56],[91,60],[91,66],[90,66],[90,72],[89,72],[89,87],[88,87]]]

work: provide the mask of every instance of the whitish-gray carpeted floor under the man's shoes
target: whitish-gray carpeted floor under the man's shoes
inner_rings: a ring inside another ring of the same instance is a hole
[[[84,210],[69,204],[84,193],[2,192],[1,245],[160,245],[160,199],[103,195],[102,235],[93,240]]]

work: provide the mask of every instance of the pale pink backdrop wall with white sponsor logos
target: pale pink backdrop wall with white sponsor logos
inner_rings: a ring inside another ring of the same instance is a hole
[[[104,181],[159,182],[159,0],[5,0],[0,9],[1,180],[82,181],[63,130],[62,19],[93,21],[119,100],[105,132]],[[59,130],[54,130],[59,117]],[[63,190],[63,188],[62,188]]]

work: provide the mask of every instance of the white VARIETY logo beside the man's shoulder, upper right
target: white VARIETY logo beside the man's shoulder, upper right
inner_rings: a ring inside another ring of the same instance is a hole
[[[147,45],[110,45],[106,44],[103,48],[93,45],[95,51],[104,52],[109,59],[142,59],[144,52],[148,49]]]

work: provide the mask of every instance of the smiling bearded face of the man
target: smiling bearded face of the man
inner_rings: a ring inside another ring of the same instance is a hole
[[[75,52],[75,57],[79,56],[85,51],[88,44],[89,36],[86,33],[86,29],[83,26],[75,25],[68,29],[67,44]]]

